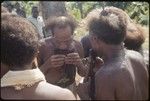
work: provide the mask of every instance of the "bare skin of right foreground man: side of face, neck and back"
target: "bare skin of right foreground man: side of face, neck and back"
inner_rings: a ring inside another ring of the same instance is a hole
[[[91,37],[91,43],[104,60],[95,75],[97,100],[148,99],[149,75],[139,53],[124,50],[122,44],[108,45],[96,36]]]

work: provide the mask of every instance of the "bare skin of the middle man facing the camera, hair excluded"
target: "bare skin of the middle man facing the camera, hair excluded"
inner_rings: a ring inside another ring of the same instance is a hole
[[[81,60],[83,58],[83,48],[79,42],[73,39],[71,32],[70,26],[61,29],[55,27],[53,37],[42,43],[38,63],[47,81],[50,83],[55,84],[61,79],[63,73],[63,68],[61,66],[64,63],[75,65],[81,76],[86,74],[86,68]],[[75,47],[77,51],[69,53],[66,56],[62,54],[54,55],[52,43],[55,43],[55,46],[59,49]]]

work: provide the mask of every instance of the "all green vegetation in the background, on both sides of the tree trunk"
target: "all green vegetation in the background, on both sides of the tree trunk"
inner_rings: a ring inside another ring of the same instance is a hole
[[[31,14],[31,8],[33,5],[38,5],[39,1],[4,1],[3,4],[11,4],[14,5],[16,2],[19,2],[22,8],[25,9],[26,15],[29,16]],[[95,8],[102,8],[105,6],[114,6],[123,9],[125,12],[129,14],[131,19],[135,20],[136,23],[146,26],[149,28],[149,3],[148,2],[117,2],[117,1],[110,1],[110,2],[65,2],[65,6],[67,12],[74,16],[74,18],[81,22],[87,14],[95,9]],[[148,32],[148,31],[147,31]],[[79,39],[81,36],[86,34],[86,30],[82,27],[79,27],[76,30],[75,38]],[[149,33],[147,33],[147,36]],[[148,47],[148,46],[147,46]]]

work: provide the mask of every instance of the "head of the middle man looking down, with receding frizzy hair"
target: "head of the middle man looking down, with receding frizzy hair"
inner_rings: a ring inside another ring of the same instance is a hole
[[[55,44],[60,49],[67,49],[70,46],[75,27],[76,23],[73,19],[65,16],[49,19],[46,24],[46,30],[51,30]]]

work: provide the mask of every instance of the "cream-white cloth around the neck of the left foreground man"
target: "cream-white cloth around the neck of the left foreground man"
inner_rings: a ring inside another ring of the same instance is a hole
[[[1,78],[1,87],[13,86],[16,90],[21,90],[25,86],[31,87],[39,81],[46,81],[43,73],[38,69],[23,71],[8,71]]]

